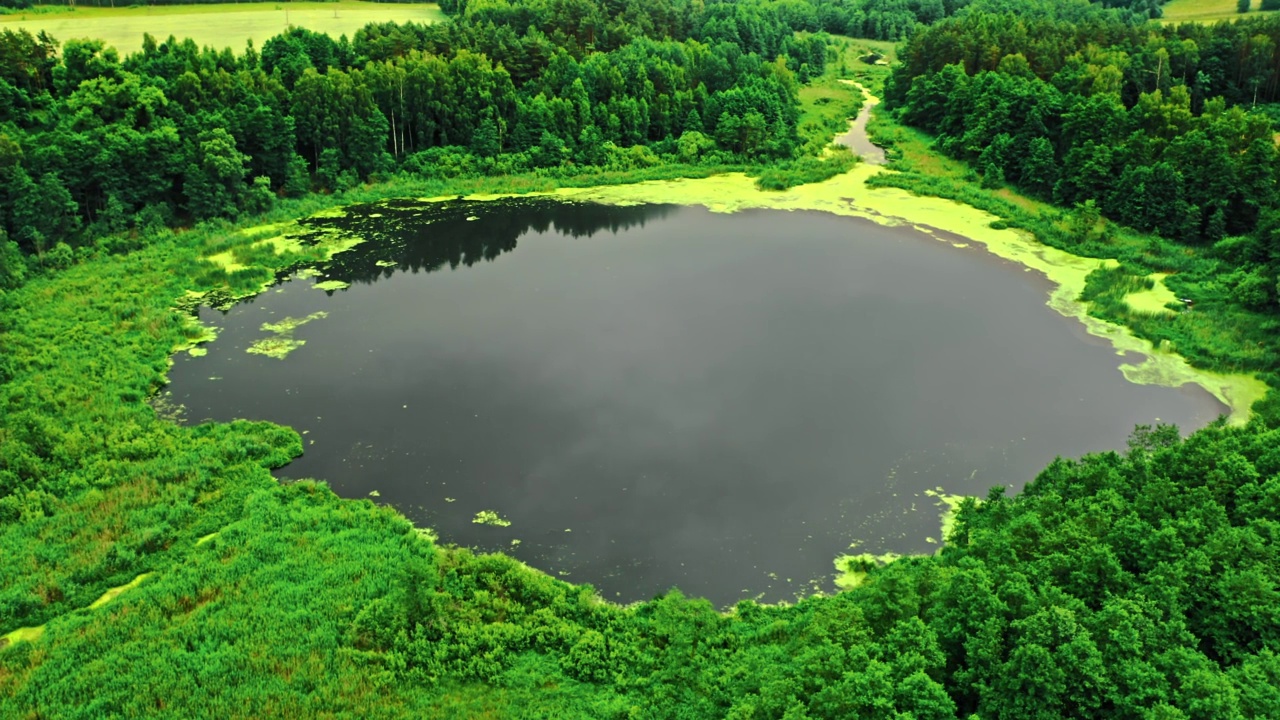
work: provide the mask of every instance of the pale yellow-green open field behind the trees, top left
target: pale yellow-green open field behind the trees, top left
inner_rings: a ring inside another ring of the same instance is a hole
[[[157,40],[170,35],[191,37],[201,46],[233,47],[262,41],[279,35],[289,26],[325,32],[334,37],[347,35],[371,22],[415,20],[438,22],[444,18],[438,5],[403,3],[223,3],[210,5],[159,5],[132,8],[72,8],[0,15],[0,27],[26,28],[32,33],[47,31],[59,41],[72,37],[105,40],[122,55],[142,49],[142,35]]]

